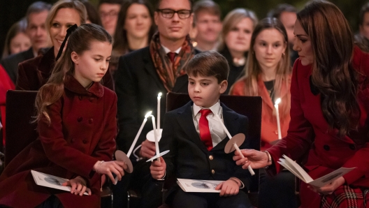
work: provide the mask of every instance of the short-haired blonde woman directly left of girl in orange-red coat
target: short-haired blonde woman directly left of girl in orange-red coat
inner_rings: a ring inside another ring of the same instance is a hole
[[[229,64],[229,85],[225,94],[229,93],[245,68],[252,31],[257,22],[255,13],[245,8],[231,10],[224,18],[219,53],[226,57]]]

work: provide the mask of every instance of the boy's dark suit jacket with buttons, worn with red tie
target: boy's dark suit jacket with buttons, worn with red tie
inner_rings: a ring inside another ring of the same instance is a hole
[[[247,191],[251,177],[249,171],[236,165],[232,158],[233,153],[226,154],[224,152],[229,138],[224,138],[222,142],[208,151],[196,132],[191,105],[193,105],[192,101],[165,114],[159,148],[160,151],[170,150],[168,154],[163,156],[164,161],[166,161],[166,177],[171,177],[173,174],[176,178],[203,180],[228,180],[230,177],[237,177],[243,181],[244,191]],[[231,135],[244,133],[248,138],[247,117],[237,114],[223,103],[221,106],[224,125],[229,133]],[[249,140],[246,139],[240,149],[247,148],[249,148]],[[176,188],[178,186],[174,186],[171,190],[174,191]],[[168,194],[170,193],[171,191]]]

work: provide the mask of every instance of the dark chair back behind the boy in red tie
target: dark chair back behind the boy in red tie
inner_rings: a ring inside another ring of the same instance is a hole
[[[261,97],[260,96],[229,96],[221,95],[220,102],[231,108],[238,114],[243,114],[249,119],[250,148],[260,150],[261,134]],[[175,110],[191,101],[189,94],[169,92],[166,95],[166,111]],[[259,170],[254,170],[249,192],[259,192]]]

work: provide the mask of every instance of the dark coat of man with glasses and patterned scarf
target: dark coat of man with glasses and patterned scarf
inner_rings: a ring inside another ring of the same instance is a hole
[[[188,77],[182,75],[175,81],[173,92],[188,93]],[[127,152],[140,128],[145,114],[152,110],[157,117],[157,94],[161,92],[161,118],[166,110],[166,88],[161,82],[154,62],[151,59],[149,47],[136,50],[120,57],[115,72],[115,92],[118,96],[118,122],[120,132],[117,136],[119,149]],[[161,124],[162,124],[161,119]],[[146,134],[152,130],[152,122],[146,123],[138,144],[146,139]]]

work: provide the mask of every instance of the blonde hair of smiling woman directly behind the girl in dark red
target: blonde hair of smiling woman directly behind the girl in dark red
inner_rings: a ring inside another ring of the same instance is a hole
[[[57,15],[57,12],[61,8],[73,8],[75,9],[78,14],[80,15],[80,24],[84,24],[87,20],[87,10],[85,8],[85,5],[83,5],[82,2],[78,0],[59,0],[57,3],[52,6],[50,9],[49,15],[46,18],[46,29],[50,33],[50,27],[52,24],[52,20],[54,20],[55,16]]]

